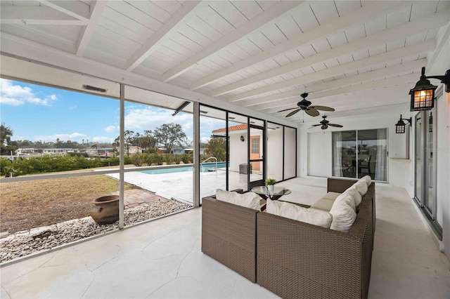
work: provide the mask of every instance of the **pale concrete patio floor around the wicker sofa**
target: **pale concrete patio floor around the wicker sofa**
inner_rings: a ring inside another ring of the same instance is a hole
[[[281,182],[308,204],[326,181]],[[376,185],[369,298],[449,298],[450,263],[406,190]],[[200,250],[201,208],[0,268],[1,298],[276,298]]]

